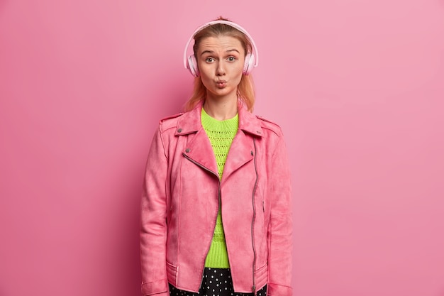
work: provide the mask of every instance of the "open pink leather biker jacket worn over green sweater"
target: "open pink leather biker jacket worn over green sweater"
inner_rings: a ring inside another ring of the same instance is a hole
[[[282,131],[239,106],[239,130],[219,181],[201,104],[160,121],[141,202],[143,295],[168,282],[198,292],[221,207],[233,287],[292,296],[292,206]]]

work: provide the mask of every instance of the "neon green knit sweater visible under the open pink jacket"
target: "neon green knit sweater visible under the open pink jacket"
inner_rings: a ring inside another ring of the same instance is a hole
[[[216,156],[219,179],[222,179],[223,167],[228,155],[228,150],[230,150],[233,138],[238,132],[239,117],[236,114],[232,119],[218,121],[206,114],[206,111],[202,108],[201,123],[210,139],[214,155]],[[209,253],[206,256],[205,267],[230,268],[220,206],[213,241],[211,242]]]

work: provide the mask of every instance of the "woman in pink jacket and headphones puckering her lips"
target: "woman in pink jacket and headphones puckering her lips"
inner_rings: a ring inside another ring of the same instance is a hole
[[[184,62],[194,94],[148,153],[143,295],[292,296],[287,151],[279,126],[251,113],[255,43],[219,18],[194,32]]]

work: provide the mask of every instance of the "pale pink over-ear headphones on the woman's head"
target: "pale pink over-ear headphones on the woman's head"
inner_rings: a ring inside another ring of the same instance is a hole
[[[242,72],[243,75],[249,75],[250,72],[252,71],[252,68],[257,67],[257,64],[259,62],[259,54],[257,53],[255,40],[253,40],[252,37],[250,36],[250,34],[248,34],[248,32],[244,28],[239,26],[237,23],[233,23],[232,21],[224,21],[224,20],[210,21],[209,23],[204,23],[204,25],[200,26],[199,28],[196,28],[196,31],[194,31],[193,35],[188,39],[187,45],[185,45],[184,67],[187,68],[189,70],[189,72],[191,72],[194,77],[199,76],[199,68],[197,67],[196,56],[193,53],[192,55],[189,55],[187,57],[189,43],[191,43],[194,36],[197,33],[199,33],[200,31],[202,31],[204,28],[216,25],[218,23],[222,23],[224,25],[228,25],[228,26],[231,26],[231,27],[237,29],[238,31],[244,33],[245,36],[250,41],[250,43],[252,45],[253,53],[248,52],[247,55],[245,55],[245,63],[243,65],[243,72]]]

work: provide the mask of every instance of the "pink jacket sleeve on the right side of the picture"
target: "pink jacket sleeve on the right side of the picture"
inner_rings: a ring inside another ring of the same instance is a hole
[[[282,133],[272,156],[267,295],[292,296],[292,189]]]

